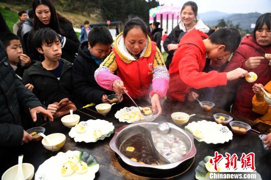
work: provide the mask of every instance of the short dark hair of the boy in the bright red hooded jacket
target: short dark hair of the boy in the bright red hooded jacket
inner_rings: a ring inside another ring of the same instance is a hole
[[[225,51],[233,52],[237,49],[241,41],[240,32],[236,28],[220,28],[209,36],[214,44],[225,45]]]

